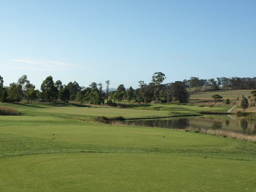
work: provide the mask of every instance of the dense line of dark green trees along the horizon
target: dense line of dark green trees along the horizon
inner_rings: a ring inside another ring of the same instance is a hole
[[[30,83],[26,75],[20,77],[17,83],[10,83],[3,86],[3,77],[0,76],[0,102],[13,102],[27,99],[28,102],[40,99],[45,102],[56,101],[77,101],[81,104],[106,104],[115,106],[124,100],[138,104],[167,103],[178,101],[187,103],[190,93],[198,91],[212,91],[222,89],[256,89],[256,77],[254,78],[214,78],[200,79],[191,77],[189,80],[175,81],[174,83],[162,84],[165,74],[154,73],[149,84],[139,81],[139,88],[129,87],[126,90],[123,84],[117,87],[116,91],[109,92],[110,81],[103,83],[92,82],[88,87],[79,86],[76,81],[63,85],[60,80],[53,81],[52,76],[46,77],[41,84],[41,90],[35,90],[35,86]],[[106,88],[106,92],[103,91]],[[255,103],[256,94],[252,91],[248,97],[251,104]]]

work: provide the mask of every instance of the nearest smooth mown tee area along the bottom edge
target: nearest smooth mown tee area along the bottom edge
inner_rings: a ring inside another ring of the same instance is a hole
[[[170,154],[74,153],[1,160],[1,191],[249,191],[254,162]],[[10,171],[15,169],[15,171]]]

